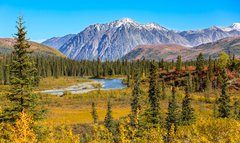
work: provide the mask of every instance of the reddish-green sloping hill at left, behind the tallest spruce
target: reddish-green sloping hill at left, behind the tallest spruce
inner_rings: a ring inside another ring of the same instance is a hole
[[[11,38],[0,38],[0,53],[8,54],[14,50],[15,40]],[[33,52],[33,55],[46,55],[46,56],[59,56],[66,57],[58,50],[51,48],[49,46],[39,44],[36,42],[29,41],[31,45],[30,50]]]

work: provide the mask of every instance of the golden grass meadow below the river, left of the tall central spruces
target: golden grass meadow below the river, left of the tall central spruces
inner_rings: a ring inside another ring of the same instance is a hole
[[[91,104],[96,103],[99,121],[104,121],[109,97],[112,100],[113,117],[119,119],[130,113],[130,88],[121,90],[96,90],[83,94],[67,94],[63,97],[41,95],[41,104],[48,110],[45,122],[53,125],[92,123]]]

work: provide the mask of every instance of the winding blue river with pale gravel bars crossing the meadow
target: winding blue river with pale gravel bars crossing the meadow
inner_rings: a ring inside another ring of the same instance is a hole
[[[94,87],[94,84],[101,84],[101,88]],[[67,88],[44,90],[41,93],[63,95],[64,92],[71,92],[72,94],[85,93],[93,90],[110,90],[110,89],[122,89],[126,85],[122,83],[122,79],[93,79],[92,82],[81,83],[73,85]]]

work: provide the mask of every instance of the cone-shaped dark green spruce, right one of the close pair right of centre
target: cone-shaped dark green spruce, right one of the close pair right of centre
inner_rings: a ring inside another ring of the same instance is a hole
[[[181,124],[190,125],[195,121],[194,109],[191,107],[191,98],[189,95],[189,87],[186,86],[185,97],[182,101]]]

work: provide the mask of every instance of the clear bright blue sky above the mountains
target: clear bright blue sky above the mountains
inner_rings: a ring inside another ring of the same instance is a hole
[[[88,25],[131,18],[189,30],[240,22],[239,0],[0,0],[0,37],[24,16],[30,40],[79,33]]]

